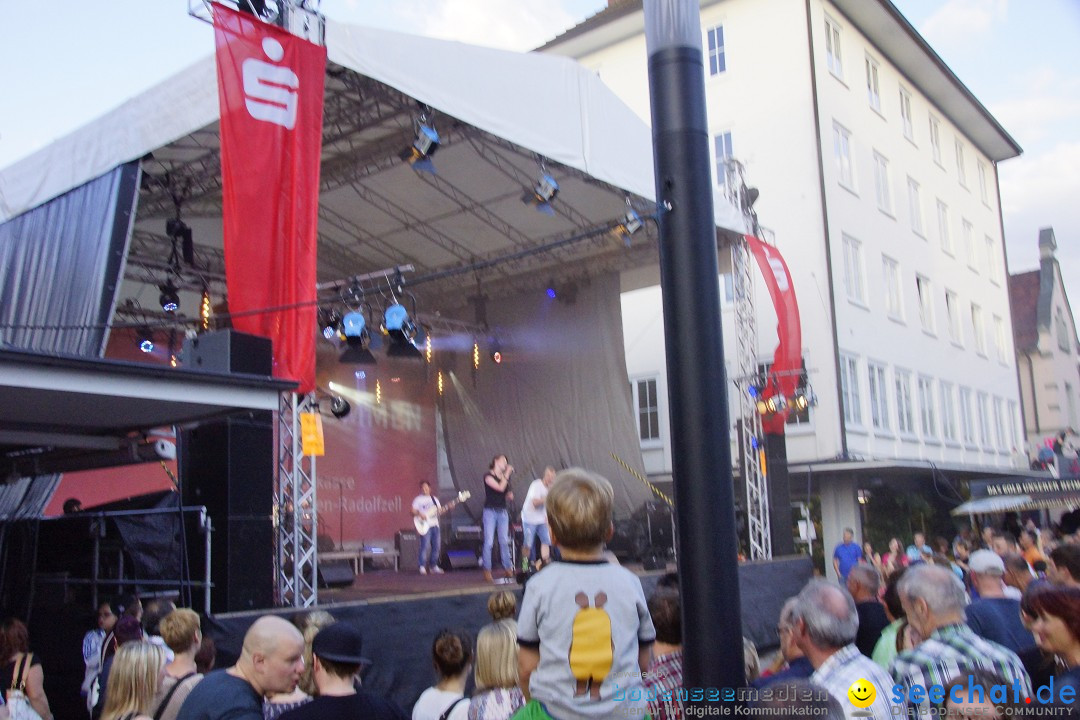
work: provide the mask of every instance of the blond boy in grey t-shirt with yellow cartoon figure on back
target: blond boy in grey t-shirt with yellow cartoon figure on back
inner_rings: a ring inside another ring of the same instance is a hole
[[[642,675],[656,630],[637,576],[607,562],[611,484],[578,467],[548,493],[551,541],[563,554],[529,581],[517,617],[526,697],[563,719],[644,716]]]

